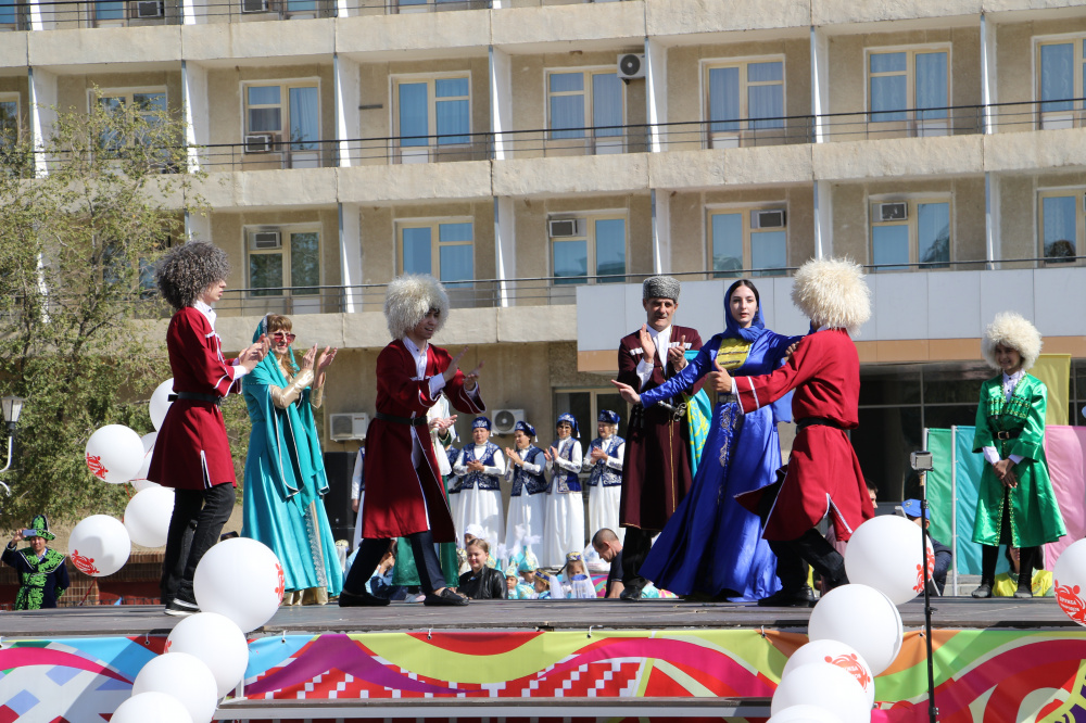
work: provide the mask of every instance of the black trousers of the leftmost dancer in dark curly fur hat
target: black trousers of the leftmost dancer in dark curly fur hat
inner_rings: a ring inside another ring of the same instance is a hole
[[[162,561],[162,580],[159,589],[162,601],[168,602],[178,595],[192,597],[192,575],[200,558],[218,542],[223,525],[230,519],[237,491],[229,482],[207,490],[175,490],[174,515],[166,533],[166,554]],[[186,553],[186,533],[191,530],[192,542]]]

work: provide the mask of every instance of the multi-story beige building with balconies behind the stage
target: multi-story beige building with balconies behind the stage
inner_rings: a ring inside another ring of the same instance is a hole
[[[188,233],[233,261],[220,331],[274,310],[341,347],[327,415],[371,411],[404,271],[447,284],[440,342],[547,442],[620,405],[644,276],[683,279],[706,339],[757,277],[798,334],[790,272],[831,254],[871,272],[853,440],[884,499],[924,427],[972,422],[998,310],[1086,399],[1086,2],[387,2],[0,0],[0,124],[46,132],[93,86],[184,117]]]

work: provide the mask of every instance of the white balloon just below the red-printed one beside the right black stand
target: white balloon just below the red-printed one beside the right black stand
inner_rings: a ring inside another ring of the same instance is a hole
[[[897,606],[874,587],[859,583],[842,585],[823,595],[807,623],[810,639],[850,645],[875,675],[897,658],[904,633]]]

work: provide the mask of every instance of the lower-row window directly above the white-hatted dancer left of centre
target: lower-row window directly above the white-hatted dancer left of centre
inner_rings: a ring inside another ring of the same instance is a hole
[[[471,286],[475,279],[473,233],[472,221],[467,219],[401,224],[403,272],[432,274],[452,289]]]

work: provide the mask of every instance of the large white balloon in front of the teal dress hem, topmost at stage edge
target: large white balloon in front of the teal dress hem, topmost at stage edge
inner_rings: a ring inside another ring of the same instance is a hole
[[[214,545],[192,579],[200,609],[226,616],[247,633],[272,620],[282,602],[283,586],[275,553],[248,537]]]

